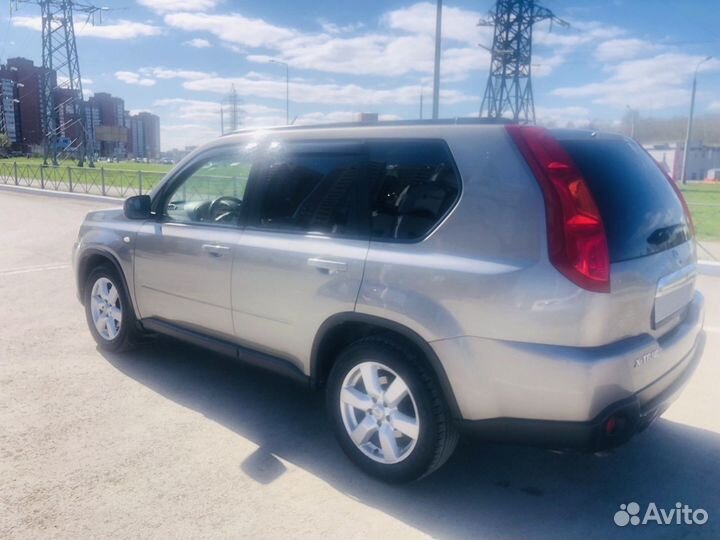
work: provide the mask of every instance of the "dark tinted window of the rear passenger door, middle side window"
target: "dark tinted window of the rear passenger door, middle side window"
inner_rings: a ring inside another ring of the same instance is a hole
[[[358,153],[284,150],[269,159],[257,224],[275,230],[362,235]]]

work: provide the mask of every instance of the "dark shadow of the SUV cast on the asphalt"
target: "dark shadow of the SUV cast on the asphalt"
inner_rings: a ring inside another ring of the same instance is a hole
[[[658,420],[605,455],[463,440],[439,471],[402,486],[359,472],[326,421],[323,395],[271,373],[170,340],[103,353],[118,370],[258,445],[240,464],[262,484],[293,463],[436,538],[718,538],[720,435]],[[703,508],[705,525],[619,528],[620,504]]]

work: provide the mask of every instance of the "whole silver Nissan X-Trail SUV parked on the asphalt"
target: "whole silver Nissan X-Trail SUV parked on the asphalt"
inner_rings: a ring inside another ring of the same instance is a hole
[[[634,141],[475,123],[289,127],[193,152],[75,248],[101,348],[164,334],[325,388],[386,481],[465,429],[597,450],[704,346],[693,228]]]

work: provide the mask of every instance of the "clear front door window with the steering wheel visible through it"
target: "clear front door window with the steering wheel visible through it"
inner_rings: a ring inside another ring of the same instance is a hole
[[[163,215],[179,223],[239,222],[251,169],[251,153],[213,154],[201,160],[165,200]]]

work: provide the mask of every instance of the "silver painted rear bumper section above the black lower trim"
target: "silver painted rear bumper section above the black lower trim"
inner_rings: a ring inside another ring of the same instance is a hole
[[[658,339],[644,334],[600,347],[567,347],[467,336],[430,345],[463,420],[592,423],[618,403],[646,406],[699,358],[702,295],[696,292],[686,309],[683,321]]]

